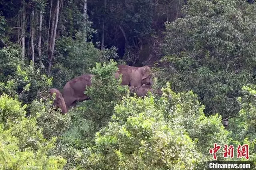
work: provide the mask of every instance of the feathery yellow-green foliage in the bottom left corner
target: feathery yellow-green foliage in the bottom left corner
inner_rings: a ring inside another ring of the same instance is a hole
[[[54,139],[46,146],[41,146],[34,152],[27,148],[24,151],[18,149],[18,140],[11,135],[11,131],[3,130],[0,125],[0,167],[1,169],[62,169],[66,161],[61,157],[47,156],[48,150],[53,148]]]

